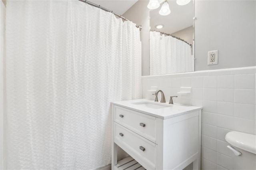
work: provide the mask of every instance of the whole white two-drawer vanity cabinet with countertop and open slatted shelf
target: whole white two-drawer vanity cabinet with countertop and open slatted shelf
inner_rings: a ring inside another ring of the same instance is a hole
[[[181,170],[192,162],[193,169],[199,169],[202,108],[152,102],[152,105],[163,106],[152,109],[134,102],[152,101],[140,99],[112,103],[112,170],[123,169],[117,162],[117,146],[144,167],[140,169]],[[134,169],[136,167],[138,164]]]

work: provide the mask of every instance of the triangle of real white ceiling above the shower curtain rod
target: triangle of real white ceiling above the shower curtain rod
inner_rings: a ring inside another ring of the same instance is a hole
[[[116,14],[122,15],[131,8],[138,0],[89,0],[90,2],[100,5]]]

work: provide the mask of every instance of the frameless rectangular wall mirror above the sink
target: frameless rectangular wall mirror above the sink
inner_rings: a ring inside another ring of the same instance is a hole
[[[170,14],[163,16],[167,5]],[[162,1],[150,10],[150,75],[194,71],[193,18],[193,0]]]

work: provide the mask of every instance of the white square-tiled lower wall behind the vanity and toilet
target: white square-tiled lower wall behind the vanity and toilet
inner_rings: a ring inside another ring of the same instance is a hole
[[[202,169],[233,169],[225,135],[232,130],[256,134],[256,67],[197,71],[142,77],[143,93],[156,85],[166,101],[180,87],[192,87],[174,103],[202,106]],[[150,81],[148,81],[150,79]],[[156,83],[157,82],[157,83]]]

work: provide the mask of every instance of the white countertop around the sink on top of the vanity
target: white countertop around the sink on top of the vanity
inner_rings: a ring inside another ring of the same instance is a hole
[[[147,101],[148,103],[152,103],[152,104],[163,105],[166,107],[161,108],[161,109],[152,109],[152,108],[144,107],[141,105],[133,104],[136,102],[144,102],[144,101]],[[160,119],[169,119],[172,117],[184,115],[191,111],[198,111],[198,110],[202,109],[202,107],[198,107],[198,106],[180,105],[180,104],[171,105],[168,103],[160,103],[160,102],[156,103],[156,102],[150,101],[148,99],[116,101],[116,102],[111,102],[111,104],[118,105],[118,106],[121,106],[121,107],[124,107],[127,109],[131,109],[134,111],[138,111],[138,112],[150,115],[150,116],[158,117]]]

